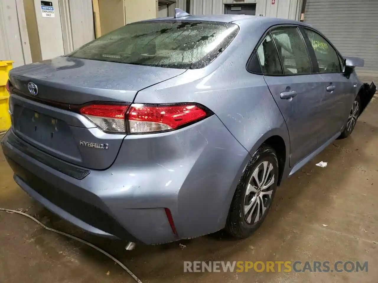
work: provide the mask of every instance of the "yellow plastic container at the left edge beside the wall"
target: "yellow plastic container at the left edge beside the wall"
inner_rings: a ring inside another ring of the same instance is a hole
[[[0,133],[11,126],[11,117],[8,112],[9,93],[5,88],[9,70],[13,61],[0,61]]]

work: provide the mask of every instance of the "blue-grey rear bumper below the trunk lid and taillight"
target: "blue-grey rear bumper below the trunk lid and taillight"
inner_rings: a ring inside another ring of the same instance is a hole
[[[91,170],[81,179],[46,165],[62,162],[50,155],[53,163],[12,145],[14,139],[30,146],[9,130],[3,152],[15,181],[31,197],[92,234],[145,244],[222,229],[250,158],[215,115],[174,132],[128,136],[109,169]]]

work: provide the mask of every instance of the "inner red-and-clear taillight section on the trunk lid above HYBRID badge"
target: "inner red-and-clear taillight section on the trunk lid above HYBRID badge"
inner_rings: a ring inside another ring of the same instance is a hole
[[[125,133],[125,105],[88,105],[80,113],[105,132]]]

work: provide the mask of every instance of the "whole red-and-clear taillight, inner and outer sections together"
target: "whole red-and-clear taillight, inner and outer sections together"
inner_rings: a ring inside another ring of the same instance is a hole
[[[129,108],[126,114],[126,110]],[[198,122],[211,114],[194,104],[180,105],[88,105],[80,113],[105,132],[130,134],[169,131]]]

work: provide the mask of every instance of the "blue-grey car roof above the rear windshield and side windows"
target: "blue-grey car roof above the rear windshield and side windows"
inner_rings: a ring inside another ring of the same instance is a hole
[[[187,17],[166,17],[166,18],[154,18],[146,21],[159,21],[159,20],[175,20],[175,21],[208,21],[208,22],[223,22],[223,23],[232,23],[237,22],[238,25],[302,25],[312,27],[303,22],[298,22],[294,20],[289,20],[285,18],[270,18],[263,16],[252,16],[252,15],[189,15]]]

